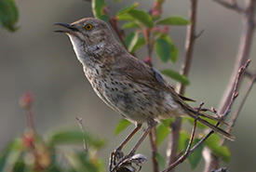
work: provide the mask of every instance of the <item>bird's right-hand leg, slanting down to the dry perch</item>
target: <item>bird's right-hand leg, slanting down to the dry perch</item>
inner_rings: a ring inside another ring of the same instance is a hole
[[[130,152],[128,152],[127,155],[123,156],[118,163],[114,166],[114,168],[110,171],[115,171],[116,168],[118,168],[119,165],[121,165],[123,162],[125,162],[128,158],[130,158],[131,156],[134,155],[134,153],[138,150],[138,148],[140,147],[142,141],[147,137],[147,135],[151,132],[152,128],[154,126],[156,126],[156,122],[154,119],[149,119],[148,120],[148,127],[146,129],[146,131],[143,133],[143,135],[141,136],[141,139],[139,139],[139,141],[135,144],[135,146],[130,150]]]

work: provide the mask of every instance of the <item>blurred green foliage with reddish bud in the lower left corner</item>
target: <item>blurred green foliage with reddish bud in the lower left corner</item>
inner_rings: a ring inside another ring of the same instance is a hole
[[[78,129],[51,131],[43,137],[35,132],[33,95],[28,92],[21,96],[20,106],[26,111],[28,126],[22,135],[10,141],[0,154],[0,171],[3,172],[75,172],[104,171],[98,152],[105,141]],[[83,139],[87,151],[61,149],[60,146],[79,144]]]

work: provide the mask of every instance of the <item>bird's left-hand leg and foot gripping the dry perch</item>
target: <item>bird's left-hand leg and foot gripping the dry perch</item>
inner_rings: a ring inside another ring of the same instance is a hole
[[[116,159],[117,159],[117,161],[119,161],[124,156],[124,153],[121,152],[121,150],[128,143],[128,140],[131,139],[135,135],[135,133],[137,133],[139,131],[141,126],[142,126],[141,123],[136,124],[136,127],[131,131],[131,133],[128,135],[128,137],[115,149],[114,152],[111,152],[110,162],[109,162],[110,169],[112,169],[112,166],[115,165]]]

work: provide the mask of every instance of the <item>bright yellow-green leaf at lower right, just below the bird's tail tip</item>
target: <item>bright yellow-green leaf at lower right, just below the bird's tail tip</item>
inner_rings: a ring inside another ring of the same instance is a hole
[[[230,159],[230,152],[226,146],[221,145],[221,136],[213,133],[209,139],[206,139],[205,144],[217,157],[221,157],[224,162],[228,162]]]

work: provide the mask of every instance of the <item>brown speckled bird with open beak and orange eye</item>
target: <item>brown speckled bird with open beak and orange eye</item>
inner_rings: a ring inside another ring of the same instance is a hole
[[[124,147],[141,128],[142,123],[148,123],[148,128],[137,147],[158,121],[177,116],[196,118],[222,137],[235,139],[222,128],[203,119],[206,117],[220,121],[218,117],[197,112],[185,102],[190,99],[179,95],[161,73],[128,53],[115,39],[105,21],[85,18],[71,24],[55,25],[65,28],[56,32],[69,36],[74,53],[82,63],[84,73],[98,97],[136,125],[116,150],[120,151]],[[137,147],[129,154],[132,155]]]

